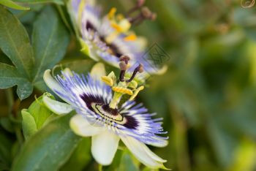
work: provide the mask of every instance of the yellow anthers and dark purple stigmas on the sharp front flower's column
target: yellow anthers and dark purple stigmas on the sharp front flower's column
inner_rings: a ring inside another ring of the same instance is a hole
[[[130,96],[129,100],[135,99],[140,91],[144,89],[144,86],[139,86],[136,80],[134,80],[136,74],[139,72],[143,72],[143,65],[139,64],[133,71],[131,77],[125,77],[125,72],[128,68],[129,56],[121,56],[120,57],[120,75],[119,82],[116,80],[116,75],[114,72],[110,72],[108,76],[102,76],[102,81],[106,83],[108,86],[112,88],[114,91],[113,99],[110,102],[110,108],[115,109],[116,105],[121,99],[121,96],[124,94],[128,94]]]

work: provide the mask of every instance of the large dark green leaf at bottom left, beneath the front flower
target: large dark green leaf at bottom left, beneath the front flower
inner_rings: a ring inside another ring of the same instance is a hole
[[[16,156],[12,171],[58,170],[80,140],[69,128],[71,117],[71,113],[58,117],[30,137]]]

